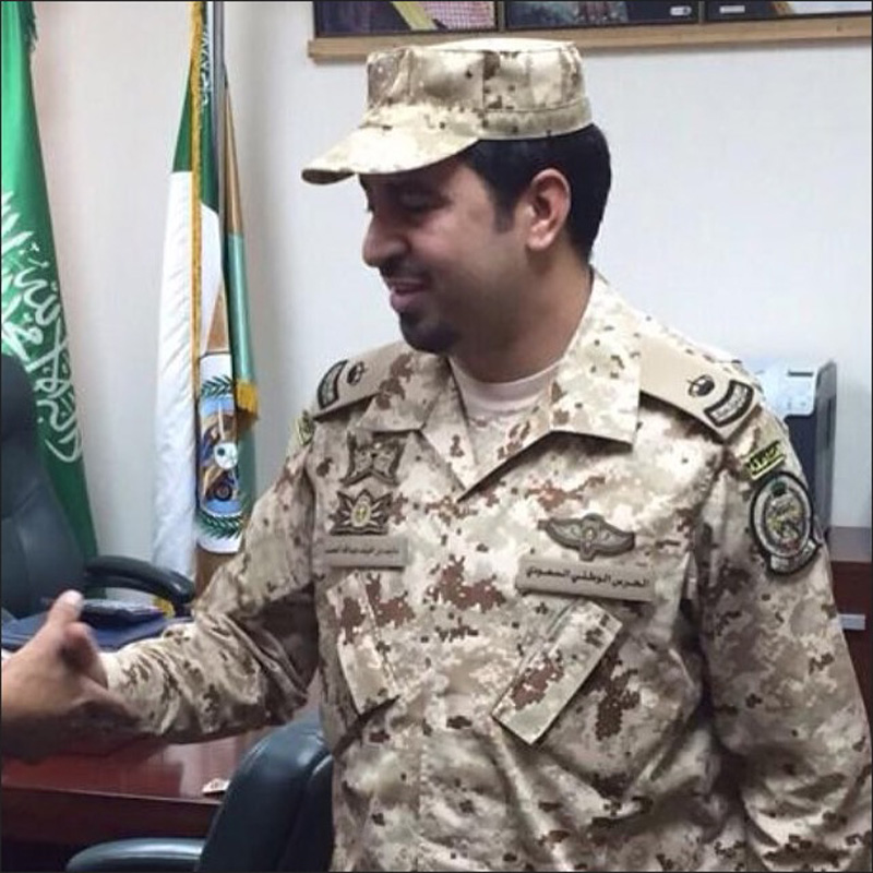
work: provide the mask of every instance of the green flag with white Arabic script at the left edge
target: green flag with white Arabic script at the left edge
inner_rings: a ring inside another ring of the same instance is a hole
[[[97,548],[31,82],[33,3],[3,0],[2,28],[2,350],[31,376],[49,476],[92,558]]]

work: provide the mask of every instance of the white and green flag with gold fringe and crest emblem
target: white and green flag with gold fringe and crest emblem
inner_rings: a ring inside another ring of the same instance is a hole
[[[196,577],[202,590],[240,547],[254,492],[258,394],[230,100],[215,38],[220,4],[190,8],[160,289],[153,560]]]

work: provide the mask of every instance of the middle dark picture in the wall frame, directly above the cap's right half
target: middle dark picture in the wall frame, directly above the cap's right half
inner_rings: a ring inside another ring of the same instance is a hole
[[[623,0],[623,2],[527,2],[503,4],[507,31],[555,27],[603,27],[627,24],[687,24],[699,20],[697,2]]]

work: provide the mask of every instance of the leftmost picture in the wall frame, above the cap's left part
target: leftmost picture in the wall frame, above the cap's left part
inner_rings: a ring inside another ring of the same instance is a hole
[[[495,31],[494,0],[315,0],[315,36]]]

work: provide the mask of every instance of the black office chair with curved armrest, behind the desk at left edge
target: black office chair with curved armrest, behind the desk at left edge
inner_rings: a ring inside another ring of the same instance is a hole
[[[188,577],[133,558],[83,559],[43,463],[31,380],[10,355],[3,355],[0,372],[3,621],[41,612],[65,588],[85,596],[107,587],[133,588],[168,600],[177,615],[187,614],[194,596]]]

